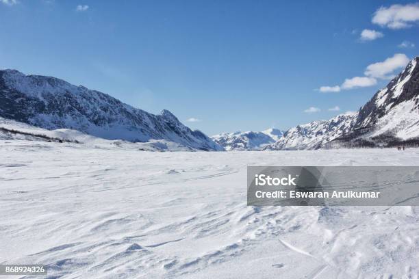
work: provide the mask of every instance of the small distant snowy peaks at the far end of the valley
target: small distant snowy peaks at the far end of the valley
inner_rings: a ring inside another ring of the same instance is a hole
[[[263,132],[236,132],[236,133],[220,133],[212,136],[214,142],[223,146],[227,151],[249,151],[261,150],[266,144],[272,144],[275,139],[267,131],[273,130],[273,136],[280,131],[277,129],[268,129]]]

